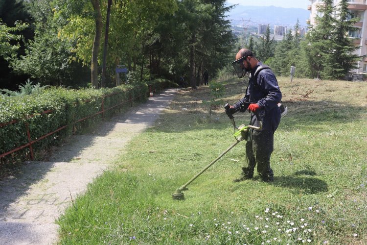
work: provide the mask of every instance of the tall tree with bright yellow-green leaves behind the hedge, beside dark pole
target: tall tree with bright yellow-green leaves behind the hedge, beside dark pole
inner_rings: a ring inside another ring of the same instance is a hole
[[[103,34],[107,0],[57,0],[55,8],[56,18],[62,17],[69,21],[60,30],[60,36],[76,42],[73,51],[84,64],[90,64],[93,60],[91,70],[95,78],[98,64],[102,60],[99,40]],[[175,10],[174,0],[115,0],[111,6],[107,63],[114,67],[121,58],[125,58],[129,67],[131,62],[135,67],[138,55],[141,54],[141,40],[145,38],[145,34],[156,25],[160,15]],[[97,64],[96,60],[99,61]],[[96,84],[95,80],[92,82],[93,85]]]

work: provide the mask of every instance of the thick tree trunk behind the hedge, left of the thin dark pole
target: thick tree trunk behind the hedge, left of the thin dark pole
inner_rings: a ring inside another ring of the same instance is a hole
[[[98,88],[98,50],[102,36],[102,14],[99,0],[91,0],[94,10],[95,34],[92,48],[92,86]]]

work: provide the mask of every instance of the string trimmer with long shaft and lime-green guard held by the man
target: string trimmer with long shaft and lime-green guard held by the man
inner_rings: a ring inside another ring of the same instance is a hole
[[[229,106],[228,104],[225,105],[225,109],[227,109],[226,107]],[[256,115],[257,116],[257,115]],[[239,127],[236,127],[236,123],[234,122],[234,117],[233,115],[229,116],[230,121],[232,122],[233,126],[235,129],[237,129],[238,131],[234,133],[234,139],[236,140],[235,143],[233,143],[233,145],[231,145],[228,149],[226,149],[222,154],[220,154],[217,158],[215,158],[209,165],[207,165],[202,171],[198,172],[194,177],[192,177],[189,181],[187,181],[186,184],[184,184],[183,186],[181,186],[179,189],[176,189],[175,193],[172,194],[172,198],[176,199],[176,200],[183,200],[184,199],[184,193],[182,193],[182,191],[187,190],[187,186],[194,181],[197,177],[199,177],[203,172],[205,172],[211,165],[213,165],[216,161],[218,161],[222,156],[224,156],[227,152],[229,152],[229,150],[233,147],[235,147],[239,142],[243,141],[243,140],[247,140],[247,135],[248,132],[250,130],[250,128],[253,129],[257,129],[260,130],[262,128],[262,122],[259,121],[260,126],[259,127],[255,127],[252,125],[248,125],[245,126],[245,124],[240,125]],[[259,119],[259,117],[258,117]]]

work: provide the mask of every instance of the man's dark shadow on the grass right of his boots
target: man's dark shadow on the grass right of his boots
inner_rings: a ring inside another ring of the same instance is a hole
[[[296,189],[308,194],[328,191],[325,181],[313,177],[277,176],[271,185]]]

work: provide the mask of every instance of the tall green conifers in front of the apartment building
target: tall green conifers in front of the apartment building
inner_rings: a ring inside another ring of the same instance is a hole
[[[359,47],[355,47],[346,35],[359,20],[349,18],[347,5],[347,1],[342,0],[339,6],[333,7],[332,0],[323,0],[323,4],[318,6],[321,17],[315,19],[318,25],[312,26],[306,35],[306,44],[302,45],[305,54],[303,64],[308,65],[307,73],[317,78],[342,78],[356,68],[360,59],[352,54]],[[334,12],[337,13],[335,17]]]

